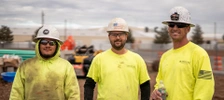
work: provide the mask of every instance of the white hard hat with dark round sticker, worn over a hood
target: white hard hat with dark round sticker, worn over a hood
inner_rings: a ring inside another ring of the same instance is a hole
[[[37,40],[41,38],[50,38],[58,40],[62,44],[63,42],[60,40],[59,37],[59,32],[55,27],[43,25],[43,27],[39,29],[37,36],[34,38],[34,42],[37,42]]]

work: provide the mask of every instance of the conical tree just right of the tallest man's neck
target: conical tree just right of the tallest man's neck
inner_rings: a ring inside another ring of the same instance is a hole
[[[191,36],[191,41],[194,42],[195,44],[202,44],[204,42],[203,37],[202,37],[202,30],[200,25],[196,25]]]

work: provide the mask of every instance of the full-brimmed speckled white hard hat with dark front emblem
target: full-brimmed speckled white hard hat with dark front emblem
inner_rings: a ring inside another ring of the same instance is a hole
[[[186,8],[181,6],[172,8],[170,10],[170,20],[165,20],[162,23],[168,24],[170,22],[185,23],[189,24],[191,27],[195,26],[193,23],[191,23],[190,12]]]

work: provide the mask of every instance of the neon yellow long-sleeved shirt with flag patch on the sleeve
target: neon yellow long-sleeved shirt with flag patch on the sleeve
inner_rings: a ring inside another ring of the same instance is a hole
[[[156,78],[164,81],[167,100],[212,100],[214,78],[207,52],[189,42],[162,55]]]

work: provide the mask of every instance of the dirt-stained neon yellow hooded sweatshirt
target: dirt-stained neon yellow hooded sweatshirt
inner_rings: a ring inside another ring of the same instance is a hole
[[[59,57],[59,49],[53,58],[44,60],[38,43],[36,57],[25,60],[16,72],[10,100],[80,100],[73,66]]]

